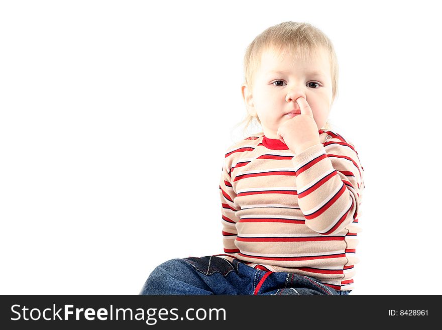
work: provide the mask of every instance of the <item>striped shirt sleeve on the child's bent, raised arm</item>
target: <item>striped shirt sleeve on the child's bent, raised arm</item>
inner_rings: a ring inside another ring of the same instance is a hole
[[[292,161],[298,204],[307,227],[333,235],[358,223],[364,181],[353,144],[333,139],[304,150]]]

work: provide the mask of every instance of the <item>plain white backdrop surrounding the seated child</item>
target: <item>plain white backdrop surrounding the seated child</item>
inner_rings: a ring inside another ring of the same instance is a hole
[[[168,259],[222,253],[244,53],[298,21],[335,45],[330,121],[365,170],[353,294],[442,294],[433,3],[1,2],[0,293],[138,294]]]

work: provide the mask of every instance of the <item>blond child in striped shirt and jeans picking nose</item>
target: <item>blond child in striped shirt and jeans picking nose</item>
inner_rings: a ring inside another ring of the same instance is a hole
[[[141,294],[349,294],[363,167],[329,130],[334,47],[284,22],[249,45],[242,93],[262,132],[228,148],[220,180],[225,254],[169,260]]]

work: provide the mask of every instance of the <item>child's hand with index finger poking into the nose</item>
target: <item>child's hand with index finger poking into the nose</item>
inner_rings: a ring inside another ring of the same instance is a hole
[[[307,100],[298,97],[296,102],[299,104],[301,114],[297,115],[278,128],[278,138],[284,142],[295,154],[321,143],[319,139],[319,130],[313,118],[313,112]]]

